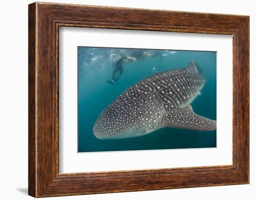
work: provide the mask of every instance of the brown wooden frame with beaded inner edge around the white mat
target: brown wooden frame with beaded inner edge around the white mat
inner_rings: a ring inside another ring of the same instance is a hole
[[[249,183],[249,16],[33,3],[28,6],[29,175],[34,197]],[[233,36],[233,164],[59,174],[60,26]]]

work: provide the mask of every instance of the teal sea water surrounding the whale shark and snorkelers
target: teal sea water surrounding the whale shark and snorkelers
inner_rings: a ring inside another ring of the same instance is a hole
[[[93,126],[98,116],[124,90],[154,74],[185,68],[192,59],[206,82],[191,106],[196,114],[216,120],[216,52],[141,49],[150,56],[141,55],[135,62],[123,63],[118,81],[108,83],[112,80],[113,65],[134,51],[78,46],[78,152],[215,148],[216,130],[168,127],[127,139],[100,140],[94,136]],[[118,75],[119,72],[115,77]]]

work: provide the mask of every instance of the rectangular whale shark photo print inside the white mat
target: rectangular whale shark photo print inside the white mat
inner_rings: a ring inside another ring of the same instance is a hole
[[[79,46],[78,77],[79,153],[216,148],[216,52]]]

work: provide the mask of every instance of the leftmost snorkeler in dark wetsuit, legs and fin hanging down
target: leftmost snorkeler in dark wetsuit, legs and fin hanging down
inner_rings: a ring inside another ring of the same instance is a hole
[[[112,80],[108,80],[107,82],[110,84],[114,84],[121,76],[121,74],[123,73],[123,63],[127,64],[129,61],[136,61],[136,58],[131,57],[131,56],[123,56],[122,58],[120,58],[119,60],[117,60],[115,62],[115,64],[113,65],[113,67],[115,67],[115,69],[113,70],[112,73]],[[119,71],[119,77],[115,78],[115,73],[117,73]]]

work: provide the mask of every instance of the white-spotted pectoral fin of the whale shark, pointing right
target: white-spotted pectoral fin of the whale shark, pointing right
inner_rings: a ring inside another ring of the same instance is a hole
[[[162,126],[208,131],[216,130],[216,121],[196,115],[191,105],[188,105],[183,109],[169,111]]]

